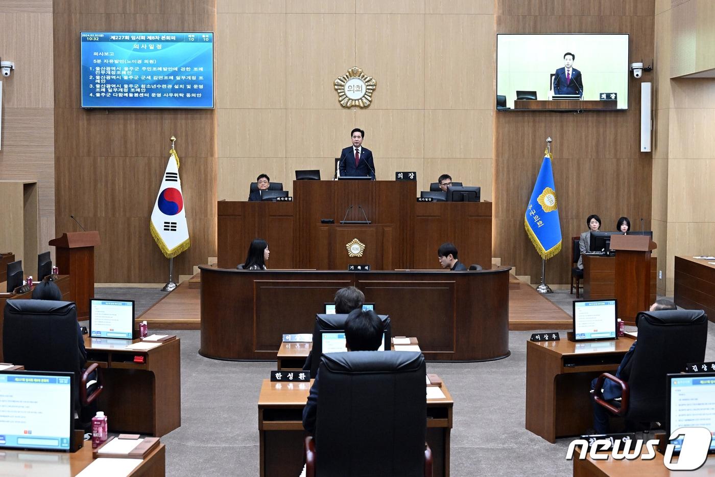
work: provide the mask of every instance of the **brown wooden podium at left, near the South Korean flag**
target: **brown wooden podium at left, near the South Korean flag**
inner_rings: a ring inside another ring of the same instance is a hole
[[[77,320],[89,318],[89,299],[94,297],[94,247],[99,232],[69,232],[49,241],[55,247],[56,266],[69,275],[69,298],[77,304]]]

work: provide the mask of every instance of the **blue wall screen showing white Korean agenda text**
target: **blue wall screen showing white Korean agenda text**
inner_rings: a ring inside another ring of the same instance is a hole
[[[81,32],[82,107],[214,107],[211,32]]]

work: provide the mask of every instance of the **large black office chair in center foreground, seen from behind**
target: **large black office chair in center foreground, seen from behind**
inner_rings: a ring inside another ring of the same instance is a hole
[[[426,431],[422,353],[325,355],[315,438],[305,438],[306,476],[432,476]]]

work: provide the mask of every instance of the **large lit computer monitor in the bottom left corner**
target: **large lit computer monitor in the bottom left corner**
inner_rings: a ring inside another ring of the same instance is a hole
[[[74,448],[74,373],[0,371],[0,450]]]

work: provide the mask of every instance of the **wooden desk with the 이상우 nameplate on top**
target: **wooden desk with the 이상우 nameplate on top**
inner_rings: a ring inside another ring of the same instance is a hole
[[[633,339],[526,343],[526,429],[551,443],[593,427],[591,380],[615,372]]]

